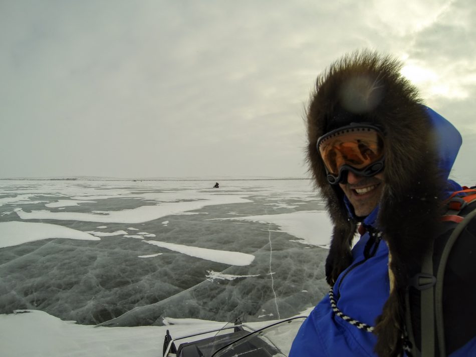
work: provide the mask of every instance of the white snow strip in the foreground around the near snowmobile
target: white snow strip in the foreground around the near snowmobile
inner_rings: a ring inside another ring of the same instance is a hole
[[[303,311],[302,315],[309,314]],[[2,357],[162,357],[163,339],[168,329],[172,337],[222,328],[227,323],[198,319],[169,319],[165,326],[95,327],[62,321],[46,312],[22,310],[0,315],[0,345]],[[250,323],[257,329],[267,323]],[[290,345],[287,340],[276,340]],[[282,338],[282,336],[280,336]],[[181,342],[194,340],[183,339]],[[177,343],[177,346],[180,342]]]

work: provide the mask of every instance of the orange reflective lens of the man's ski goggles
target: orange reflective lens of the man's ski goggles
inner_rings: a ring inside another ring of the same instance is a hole
[[[327,171],[339,176],[343,165],[362,170],[383,158],[383,135],[370,126],[345,127],[319,138],[317,143]]]

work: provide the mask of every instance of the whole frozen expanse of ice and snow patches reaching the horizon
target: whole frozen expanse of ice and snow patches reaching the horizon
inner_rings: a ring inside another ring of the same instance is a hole
[[[327,292],[311,180],[0,181],[0,313],[264,321]]]

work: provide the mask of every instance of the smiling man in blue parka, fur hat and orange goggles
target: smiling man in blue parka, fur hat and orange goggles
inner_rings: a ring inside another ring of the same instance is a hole
[[[403,353],[405,290],[438,234],[444,198],[461,189],[448,180],[461,136],[423,106],[400,69],[391,57],[363,51],[317,79],[307,154],[334,224],[331,290],[301,326],[290,357]],[[448,353],[476,355],[472,337]]]

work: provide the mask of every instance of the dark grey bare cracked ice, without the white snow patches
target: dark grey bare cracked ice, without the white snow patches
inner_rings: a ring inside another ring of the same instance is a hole
[[[21,205],[27,212],[45,209],[45,202],[72,199],[74,188],[89,189],[88,185],[93,185],[61,184],[67,188],[57,190],[52,185],[45,189],[44,184],[35,182],[24,185],[17,182],[6,188],[0,182],[0,197],[28,192],[32,203]],[[191,184],[193,187],[163,182],[145,186],[128,182],[94,185],[97,185],[95,190],[103,194],[110,192],[115,197],[91,199],[96,203],[68,207],[69,212],[124,210],[156,204],[141,198],[144,193],[172,196],[175,193],[183,197],[184,192],[209,191],[208,182],[202,183],[206,189],[200,188],[199,183]],[[105,324],[135,326],[160,325],[164,317],[232,321],[240,316],[246,321],[269,320],[278,318],[276,305],[281,318],[315,305],[327,292],[326,249],[296,242],[295,237],[276,231],[277,227],[268,223],[213,220],[324,209],[309,183],[238,181],[228,185],[223,182],[220,186],[223,187],[220,192],[227,194],[245,192],[250,202],[207,206],[193,211],[200,214],[169,215],[139,224],[30,221],[61,224],[80,231],[125,230],[131,235],[147,232],[155,234],[153,239],[158,241],[253,254],[255,260],[251,265],[216,263],[121,235],[101,237],[98,241],[61,238],[34,241],[0,249],[0,313],[39,309],[82,324],[109,321]],[[34,203],[38,201],[42,203]],[[21,220],[13,212],[17,207],[16,203],[0,206],[0,222]],[[168,223],[163,224],[164,221]],[[98,229],[101,225],[107,228]],[[137,230],[130,230],[131,227]],[[161,255],[138,258],[156,253]],[[210,271],[242,277],[208,279]]]

